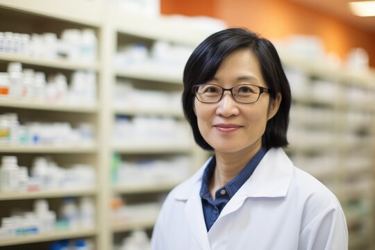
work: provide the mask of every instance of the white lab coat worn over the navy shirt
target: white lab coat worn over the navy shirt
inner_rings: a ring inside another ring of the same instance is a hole
[[[338,199],[313,176],[294,167],[283,149],[269,149],[207,232],[199,190],[208,161],[169,193],[154,227],[151,249],[348,248]]]

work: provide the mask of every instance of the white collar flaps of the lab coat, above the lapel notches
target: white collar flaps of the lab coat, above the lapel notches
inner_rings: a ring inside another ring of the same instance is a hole
[[[178,200],[188,200],[199,182],[210,158],[192,177],[181,183],[174,197]],[[269,149],[256,167],[250,178],[242,185],[235,196],[247,197],[285,197],[288,193],[292,178],[293,163],[283,149]]]

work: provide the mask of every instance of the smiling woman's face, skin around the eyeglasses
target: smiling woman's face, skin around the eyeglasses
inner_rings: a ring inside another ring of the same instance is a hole
[[[219,66],[214,78],[208,83],[232,88],[251,84],[267,88],[258,60],[249,49],[240,49],[227,56]],[[234,153],[260,149],[267,120],[278,109],[281,96],[269,102],[267,93],[260,94],[255,103],[238,103],[225,91],[217,103],[194,101],[199,131],[215,152]]]

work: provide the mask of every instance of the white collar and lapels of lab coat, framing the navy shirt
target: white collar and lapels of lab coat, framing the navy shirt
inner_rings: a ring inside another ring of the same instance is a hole
[[[269,149],[250,178],[228,201],[217,221],[207,233],[203,210],[199,206],[201,205],[199,190],[201,189],[204,169],[209,162],[210,159],[203,164],[203,167],[196,174],[181,185],[178,185],[174,190],[175,199],[186,202],[184,213],[200,249],[210,249],[210,239],[214,239],[215,235],[222,230],[219,226],[222,217],[238,210],[248,197],[285,196],[292,178],[292,163],[288,156],[285,155],[283,149]]]

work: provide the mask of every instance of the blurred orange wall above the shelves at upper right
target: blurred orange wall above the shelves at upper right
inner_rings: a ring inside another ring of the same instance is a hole
[[[223,19],[228,26],[247,27],[265,38],[284,38],[293,33],[316,35],[326,51],[344,59],[353,47],[363,47],[375,67],[375,32],[285,0],[160,0],[163,14],[208,15]]]

